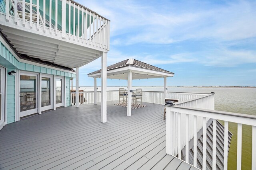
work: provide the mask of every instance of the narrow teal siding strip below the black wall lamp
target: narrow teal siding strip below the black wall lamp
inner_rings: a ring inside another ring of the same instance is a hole
[[[7,69],[7,72],[11,71]],[[7,74],[7,123],[15,121],[15,76]]]

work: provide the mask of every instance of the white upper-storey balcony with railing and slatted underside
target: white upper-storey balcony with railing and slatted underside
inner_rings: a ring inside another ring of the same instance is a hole
[[[74,68],[109,51],[110,21],[74,1],[2,0],[0,6],[2,32],[20,54]]]

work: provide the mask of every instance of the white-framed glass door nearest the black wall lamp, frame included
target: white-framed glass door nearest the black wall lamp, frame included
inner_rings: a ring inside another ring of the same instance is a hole
[[[38,113],[38,75],[20,73],[20,117]]]

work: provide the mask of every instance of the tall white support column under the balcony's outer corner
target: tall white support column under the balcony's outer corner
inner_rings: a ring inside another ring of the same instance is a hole
[[[107,122],[107,53],[101,57],[101,122]]]

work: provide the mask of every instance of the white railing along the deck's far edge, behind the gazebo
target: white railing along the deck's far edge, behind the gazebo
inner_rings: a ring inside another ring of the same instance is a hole
[[[111,90],[107,91],[107,102],[119,100],[119,91]],[[190,100],[209,94],[203,93],[182,93],[182,92],[167,92],[167,98],[179,99],[179,101]],[[70,103],[74,105],[76,103],[76,92],[70,93]],[[94,92],[79,92],[79,104],[93,104]],[[100,91],[97,92],[97,103],[101,102]],[[142,102],[153,104],[164,104],[164,92],[154,91],[142,91]]]

